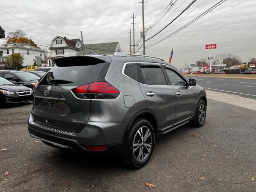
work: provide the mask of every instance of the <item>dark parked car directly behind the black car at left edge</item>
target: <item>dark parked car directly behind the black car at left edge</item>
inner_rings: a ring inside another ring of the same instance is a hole
[[[29,88],[33,88],[34,84],[40,79],[37,75],[20,70],[0,70],[0,77]]]

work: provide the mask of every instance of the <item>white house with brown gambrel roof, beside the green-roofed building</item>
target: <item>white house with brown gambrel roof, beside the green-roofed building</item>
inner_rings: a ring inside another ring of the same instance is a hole
[[[52,60],[64,56],[75,56],[80,49],[82,41],[80,39],[68,39],[56,36],[50,44],[51,56],[47,58],[48,66],[52,66]]]

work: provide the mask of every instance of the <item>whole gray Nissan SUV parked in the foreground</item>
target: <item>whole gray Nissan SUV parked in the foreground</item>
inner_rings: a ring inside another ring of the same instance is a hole
[[[34,89],[28,131],[45,144],[88,154],[150,159],[157,137],[203,126],[206,92],[162,59],[117,53],[58,58]]]

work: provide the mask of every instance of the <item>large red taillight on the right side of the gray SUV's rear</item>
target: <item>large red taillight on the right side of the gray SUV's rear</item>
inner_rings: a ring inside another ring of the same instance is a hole
[[[71,90],[76,97],[81,99],[115,99],[120,91],[108,82],[93,82]]]

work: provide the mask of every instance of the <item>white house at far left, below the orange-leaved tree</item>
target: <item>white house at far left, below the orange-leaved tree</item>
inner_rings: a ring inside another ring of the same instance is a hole
[[[13,53],[20,53],[24,57],[23,66],[33,65],[36,60],[44,60],[44,53],[40,48],[26,43],[9,43],[0,48],[0,66],[8,62]]]

